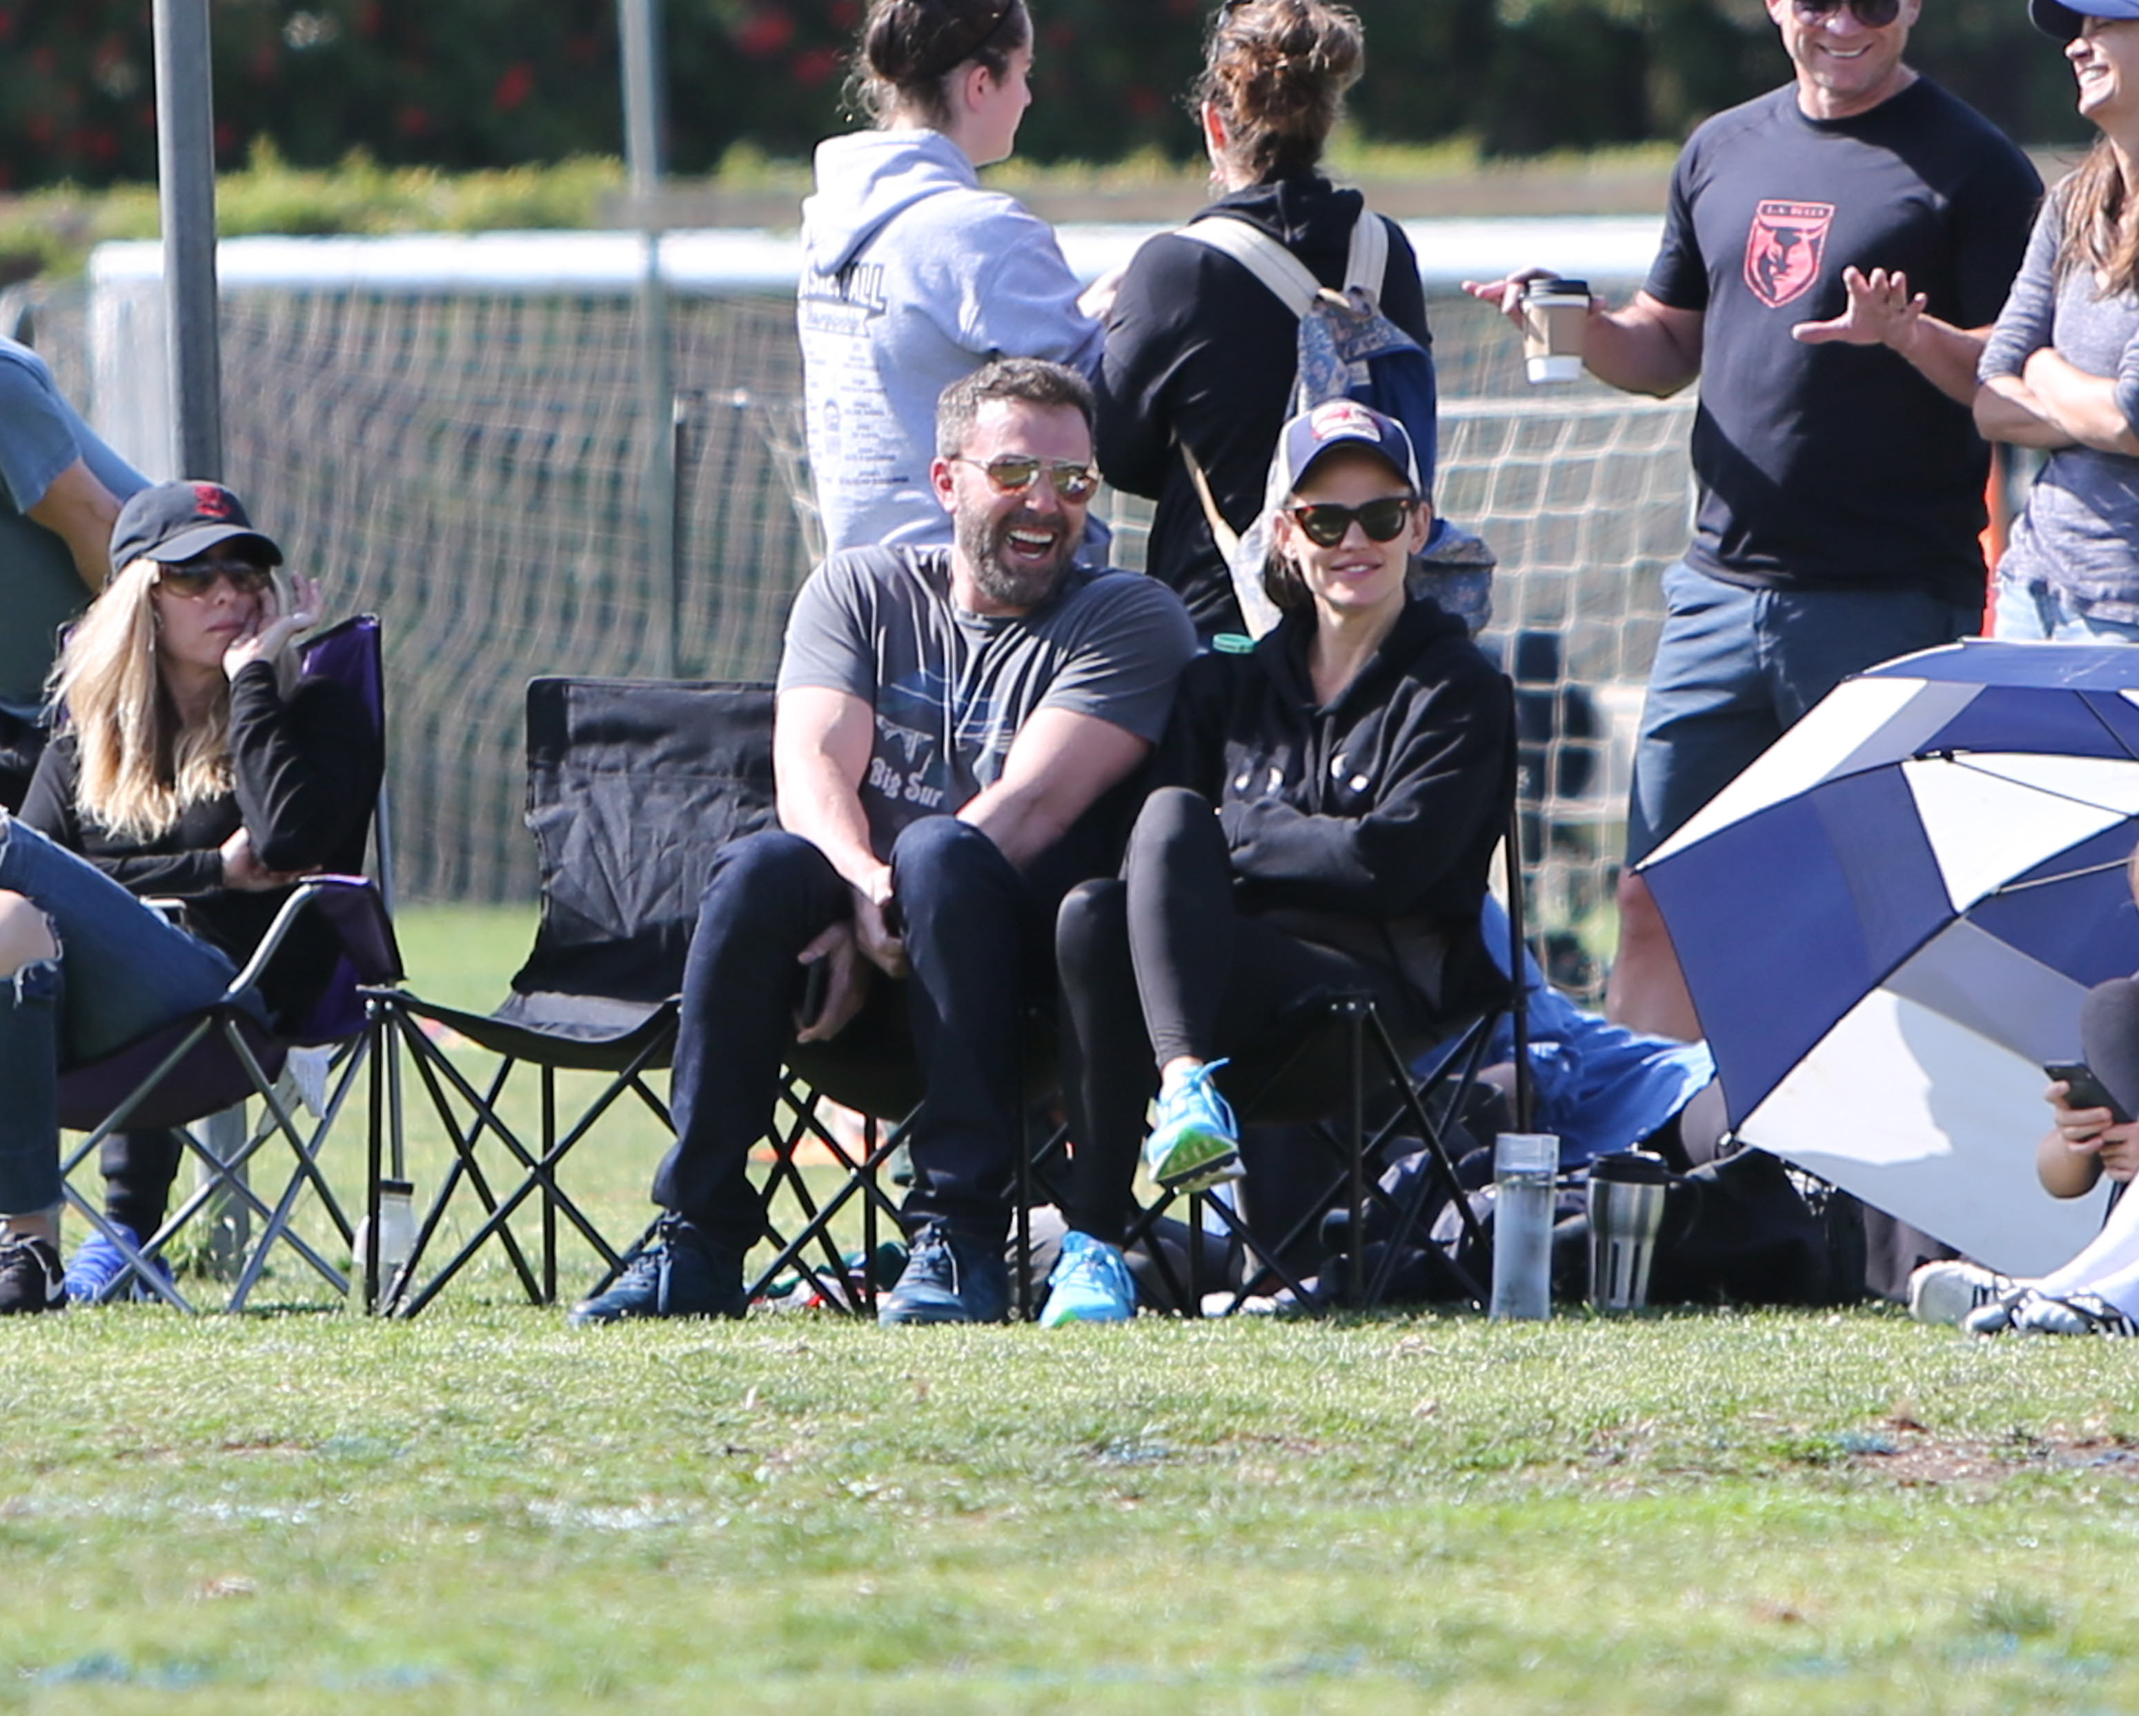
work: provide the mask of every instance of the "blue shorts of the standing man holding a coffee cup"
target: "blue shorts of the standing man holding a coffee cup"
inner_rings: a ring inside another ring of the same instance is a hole
[[[1641,863],[1852,673],[1972,637],[1974,605],[1925,590],[1748,590],[1683,560],[1634,742],[1626,861]]]

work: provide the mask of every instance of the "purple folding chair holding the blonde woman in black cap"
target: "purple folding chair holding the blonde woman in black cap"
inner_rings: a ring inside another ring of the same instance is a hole
[[[379,620],[361,613],[332,626],[302,648],[302,673],[336,680],[357,692],[372,727],[385,735],[385,677],[379,650]],[[372,808],[372,838],[385,865],[385,793]],[[255,985],[282,949],[289,930],[306,912],[325,921],[336,938],[336,968],[308,1017],[287,1034],[272,1032],[261,1017]],[[171,1239],[212,1203],[235,1201],[263,1227],[231,1289],[229,1310],[242,1310],[267,1265],[276,1242],[297,1252],[336,1293],[349,1293],[349,1276],[291,1227],[297,1201],[310,1186],[344,1244],[353,1231],[340,1201],[319,1169],[319,1152],[334,1128],[349,1092],[370,1054],[366,1002],[361,989],[374,983],[396,983],[402,977],[400,949],[381,885],[366,876],[308,876],[282,910],[267,936],[255,949],[246,968],[203,1011],[150,1032],[118,1054],[90,1066],[77,1066],[60,1079],[60,1124],[86,1137],[62,1160],[62,1173],[90,1160],[107,1137],[139,1128],[175,1128],[205,1173],[201,1184],[173,1210],[163,1227],[139,1246],[124,1229],[105,1220],[103,1212],[71,1184],[66,1201],[126,1257],[107,1293],[124,1293],[139,1282],[180,1310],[195,1310],[178,1284],[158,1267],[150,1267]],[[317,1124],[306,1130],[297,1118],[291,1083],[282,1079],[291,1049],[329,1049],[327,1094]],[[207,1116],[237,1109],[250,1098],[261,1101],[261,1116],[240,1148],[218,1152],[199,1139],[190,1124]],[[248,1165],[274,1137],[293,1152],[289,1182],[274,1203],[250,1184]]]

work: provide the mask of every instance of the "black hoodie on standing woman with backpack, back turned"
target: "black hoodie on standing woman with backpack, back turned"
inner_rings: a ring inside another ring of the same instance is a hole
[[[1292,173],[1221,197],[1194,220],[1245,218],[1324,286],[1341,286],[1363,207],[1356,190],[1337,190],[1320,173]],[[1427,344],[1418,261],[1403,231],[1386,224],[1382,314]],[[1106,318],[1099,470],[1117,489],[1159,502],[1144,568],[1181,592],[1204,637],[1245,628],[1226,558],[1174,442],[1196,453],[1226,524],[1247,530],[1262,511],[1296,350],[1298,321],[1271,288],[1232,256],[1179,233],[1161,233],[1136,252]]]

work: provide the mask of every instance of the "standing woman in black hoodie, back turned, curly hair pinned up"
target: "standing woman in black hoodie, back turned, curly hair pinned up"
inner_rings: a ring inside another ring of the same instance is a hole
[[[1324,286],[1343,286],[1356,190],[1322,173],[1322,145],[1360,75],[1358,19],[1324,0],[1245,0],[1211,26],[1189,92],[1217,201],[1189,222],[1245,220],[1286,246]],[[1388,227],[1380,306],[1429,344],[1418,261]],[[1099,470],[1157,500],[1144,568],[1187,603],[1202,637],[1241,633],[1226,556],[1187,459],[1238,534],[1264,502],[1271,451],[1296,370],[1294,314],[1249,269],[1209,244],[1161,233],[1129,261],[1106,318],[1099,365]]]

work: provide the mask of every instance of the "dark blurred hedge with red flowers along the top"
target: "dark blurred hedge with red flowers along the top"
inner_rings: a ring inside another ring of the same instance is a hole
[[[1033,162],[1185,158],[1209,0],[1031,0]],[[1356,0],[1367,143],[1484,156],[1677,141],[1780,83],[1758,0]],[[670,167],[798,158],[849,124],[862,0],[667,0]],[[214,0],[216,143],[293,169],[556,162],[620,147],[614,0]],[[2023,143],[2083,135],[2021,0],[1925,0],[1910,60]],[[0,0],[0,190],[152,180],[150,0]]]

